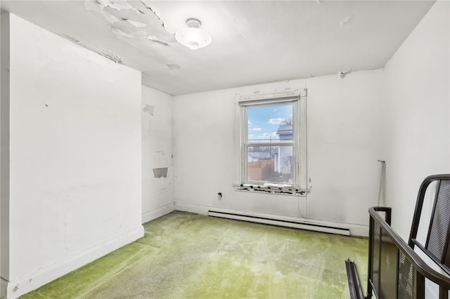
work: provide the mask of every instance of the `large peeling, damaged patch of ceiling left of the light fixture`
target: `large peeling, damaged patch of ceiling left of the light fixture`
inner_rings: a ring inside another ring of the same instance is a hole
[[[86,0],[84,6],[86,11],[101,13],[119,36],[165,45],[176,43],[175,35],[167,32],[160,16],[143,1]]]

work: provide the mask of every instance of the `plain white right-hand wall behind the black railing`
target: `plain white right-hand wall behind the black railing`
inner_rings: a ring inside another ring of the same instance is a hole
[[[385,66],[386,205],[407,239],[420,182],[450,169],[449,2],[437,1]]]

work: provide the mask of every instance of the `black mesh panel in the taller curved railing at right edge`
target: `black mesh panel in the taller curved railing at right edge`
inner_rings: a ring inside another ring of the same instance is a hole
[[[450,180],[442,180],[435,202],[435,213],[433,215],[428,236],[428,250],[442,260],[446,242],[447,230],[450,222]]]

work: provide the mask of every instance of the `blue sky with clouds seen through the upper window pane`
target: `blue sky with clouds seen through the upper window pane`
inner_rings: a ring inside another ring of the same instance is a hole
[[[285,119],[293,118],[293,105],[274,105],[264,107],[248,107],[248,141],[278,141],[276,134]]]

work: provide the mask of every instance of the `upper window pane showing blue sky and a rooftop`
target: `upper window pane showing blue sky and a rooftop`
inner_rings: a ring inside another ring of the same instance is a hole
[[[248,107],[247,142],[292,142],[293,104]]]

